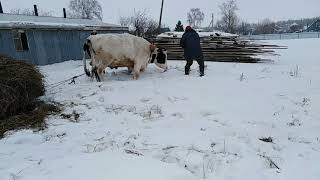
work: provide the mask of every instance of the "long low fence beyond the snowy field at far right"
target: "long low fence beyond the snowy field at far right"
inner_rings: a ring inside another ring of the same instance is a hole
[[[320,32],[246,35],[246,36],[241,36],[241,38],[248,39],[248,40],[307,39],[307,38],[320,38]]]

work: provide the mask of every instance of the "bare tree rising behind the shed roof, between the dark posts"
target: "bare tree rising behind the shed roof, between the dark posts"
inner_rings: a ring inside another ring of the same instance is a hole
[[[69,9],[71,17],[102,20],[102,7],[97,0],[71,0]]]

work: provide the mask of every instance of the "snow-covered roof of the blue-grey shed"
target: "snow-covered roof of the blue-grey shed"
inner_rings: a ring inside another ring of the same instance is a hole
[[[98,19],[0,14],[0,28],[127,28]]]

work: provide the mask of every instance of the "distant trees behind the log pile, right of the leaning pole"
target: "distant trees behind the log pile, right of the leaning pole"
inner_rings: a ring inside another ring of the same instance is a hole
[[[238,15],[238,4],[236,0],[227,0],[219,5],[220,19],[212,26],[203,28],[207,31],[220,30],[228,33],[242,35],[248,34],[275,34],[301,32],[310,26],[320,17],[304,18],[299,20],[272,21],[264,19],[258,23],[248,23],[242,21]],[[201,28],[201,22],[204,20],[204,14],[199,8],[192,8],[187,14],[187,22],[194,27]],[[175,30],[181,31],[181,21],[178,21]]]

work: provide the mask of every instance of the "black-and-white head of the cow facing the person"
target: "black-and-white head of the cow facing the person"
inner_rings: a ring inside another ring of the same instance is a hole
[[[150,45],[151,57],[149,63],[154,63],[159,68],[167,70],[167,50],[165,48],[157,48],[155,45]]]

